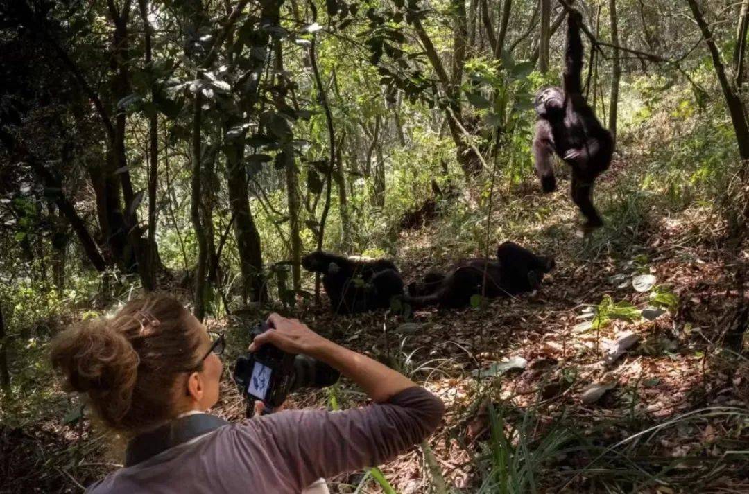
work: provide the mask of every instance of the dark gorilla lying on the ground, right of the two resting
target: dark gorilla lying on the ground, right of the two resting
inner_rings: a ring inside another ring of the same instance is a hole
[[[474,295],[493,299],[536,290],[551,269],[554,257],[538,256],[518,244],[506,242],[497,248],[497,260],[461,260],[447,275],[428,273],[423,282],[409,285],[404,300],[413,308],[464,307]]]

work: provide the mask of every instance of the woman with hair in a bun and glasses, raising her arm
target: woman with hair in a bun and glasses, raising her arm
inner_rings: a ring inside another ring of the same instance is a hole
[[[293,410],[228,424],[219,399],[223,339],[176,299],[128,302],[112,319],[74,326],[52,363],[104,424],[130,437],[123,469],[91,493],[300,493],[321,477],[390,460],[440,423],[443,403],[410,379],[272,314],[250,350],[273,344],[336,368],[375,404],[345,412]]]

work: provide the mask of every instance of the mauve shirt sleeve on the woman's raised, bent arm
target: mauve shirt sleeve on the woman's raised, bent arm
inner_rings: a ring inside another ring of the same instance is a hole
[[[395,458],[434,432],[444,412],[439,398],[414,386],[386,403],[344,412],[290,410],[253,418],[234,427],[234,440],[259,441],[270,465],[255,465],[255,472],[273,469],[302,490],[318,478]]]

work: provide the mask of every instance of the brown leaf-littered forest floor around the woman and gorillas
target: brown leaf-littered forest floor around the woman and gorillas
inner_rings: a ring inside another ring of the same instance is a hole
[[[545,493],[749,492],[749,362],[722,345],[740,295],[735,250],[721,240],[724,227],[712,210],[692,203],[667,210],[657,194],[632,199],[623,174],[634,175],[620,160],[601,180],[596,198],[607,226],[589,237],[577,234],[577,212],[564,190],[542,196],[530,182],[497,190],[491,245],[513,240],[556,256],[537,293],[480,308],[416,311],[407,319],[384,311],[339,317],[314,305],[295,312],[443,398],[446,419],[430,444],[446,481],[460,492],[531,492],[530,485]],[[560,189],[567,183],[560,180]],[[396,261],[407,281],[482,254],[461,243],[455,228],[463,220],[401,234]],[[643,274],[665,285],[676,304],[641,317],[658,293],[633,287]],[[607,305],[604,296],[631,305]],[[586,323],[596,311],[610,320]],[[208,326],[227,329],[230,367],[245,337],[225,320]],[[627,333],[639,337],[637,344],[607,362],[612,342]],[[595,391],[583,395],[591,385],[606,391],[593,400]],[[242,418],[228,376],[223,387],[216,412]],[[343,382],[298,395],[290,406],[325,406],[331,395],[342,408],[366,401]],[[111,438],[91,432],[88,421],[61,425],[71,402],[56,388],[52,396],[45,412],[30,414],[22,427],[0,427],[1,493],[79,492],[117,468],[106,446]],[[504,470],[503,451],[514,453]],[[429,492],[419,448],[380,469],[398,493]],[[488,487],[501,472],[515,476],[520,490]],[[360,484],[360,493],[382,492],[364,477],[330,479],[331,491],[351,493]]]

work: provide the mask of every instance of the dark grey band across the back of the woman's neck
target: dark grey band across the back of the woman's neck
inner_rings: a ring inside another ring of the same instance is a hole
[[[208,413],[176,418],[130,439],[125,451],[125,466],[142,463],[169,448],[189,442],[225,425],[228,425],[227,421]]]

